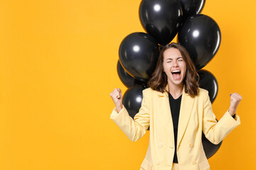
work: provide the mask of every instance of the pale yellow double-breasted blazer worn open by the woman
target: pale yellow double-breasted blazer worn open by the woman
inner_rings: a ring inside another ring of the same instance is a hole
[[[119,113],[114,108],[110,118],[132,141],[139,140],[150,125],[149,148],[141,170],[171,170],[174,159],[174,125],[168,92],[145,89],[142,107],[134,120],[124,107]],[[210,169],[203,150],[202,132],[210,142],[217,145],[238,125],[239,116],[236,114],[234,119],[228,111],[216,122],[208,91],[199,89],[198,96],[191,98],[183,89],[176,148],[179,169]]]

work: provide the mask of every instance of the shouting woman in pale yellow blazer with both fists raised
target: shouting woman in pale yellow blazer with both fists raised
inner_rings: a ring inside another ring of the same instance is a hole
[[[150,125],[149,148],[141,169],[210,169],[202,132],[217,145],[240,125],[235,111],[242,96],[230,95],[230,108],[217,123],[208,91],[198,87],[197,79],[186,49],[171,43],[161,50],[134,120],[122,105],[121,90],[110,94],[116,106],[110,118],[130,140],[139,140]]]

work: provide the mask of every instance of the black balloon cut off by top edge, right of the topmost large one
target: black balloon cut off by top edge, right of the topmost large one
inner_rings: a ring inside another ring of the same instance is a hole
[[[181,2],[183,18],[201,13],[205,0],[179,0]]]

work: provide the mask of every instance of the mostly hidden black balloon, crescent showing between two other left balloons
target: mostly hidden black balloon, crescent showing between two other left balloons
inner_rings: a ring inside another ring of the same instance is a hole
[[[146,86],[146,81],[140,81],[138,79],[134,79],[130,74],[128,74],[120,64],[119,60],[117,62],[117,73],[118,73],[119,79],[122,81],[124,86],[127,86],[127,88],[130,88],[136,85],[142,85],[142,84]]]

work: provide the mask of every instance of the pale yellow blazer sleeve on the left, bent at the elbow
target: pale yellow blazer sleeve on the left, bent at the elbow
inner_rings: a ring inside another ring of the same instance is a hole
[[[127,109],[122,108],[122,110],[117,113],[117,109],[114,108],[110,118],[114,120],[114,123],[124,132],[129,140],[137,141],[142,136],[145,135],[146,130],[149,128],[149,93],[146,90],[142,91],[142,106],[139,109],[139,113],[134,116],[134,120],[129,116]]]

